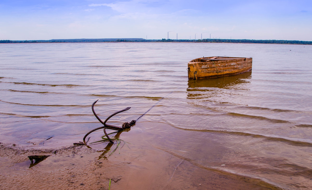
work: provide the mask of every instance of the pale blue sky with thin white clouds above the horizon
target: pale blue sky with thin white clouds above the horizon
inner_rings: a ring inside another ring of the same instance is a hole
[[[0,40],[168,36],[312,41],[312,1],[0,0]]]

